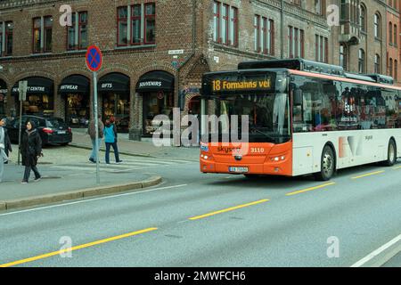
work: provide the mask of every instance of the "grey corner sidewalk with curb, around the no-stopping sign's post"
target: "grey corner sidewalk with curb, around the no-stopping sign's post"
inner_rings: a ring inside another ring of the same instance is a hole
[[[95,167],[95,165],[88,166]],[[77,171],[65,171],[51,166],[37,166],[43,175],[34,182],[31,174],[28,184],[21,184],[24,167],[14,163],[5,165],[4,182],[0,183],[0,211],[79,199],[119,191],[140,190],[161,183],[161,177],[141,173],[113,173],[107,166],[101,167],[101,183],[96,184],[95,175]]]

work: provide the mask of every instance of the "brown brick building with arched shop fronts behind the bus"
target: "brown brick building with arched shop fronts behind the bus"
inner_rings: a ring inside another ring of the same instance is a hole
[[[70,28],[60,24],[68,19],[65,4],[71,7]],[[327,24],[328,4],[348,11],[340,27]],[[361,5],[365,31],[358,23]],[[340,64],[342,44],[347,69],[358,71],[363,49],[366,73],[374,71],[373,54],[385,70],[385,19],[389,11],[399,19],[396,9],[379,0],[4,0],[0,11],[0,113],[16,113],[15,87],[28,78],[24,112],[84,124],[93,113],[86,47],[98,45],[104,57],[99,109],[103,119],[116,117],[133,139],[150,135],[151,119],[171,116],[173,107],[198,113],[201,75],[235,69],[241,61],[304,57]],[[373,11],[380,15],[380,38],[374,37]]]

